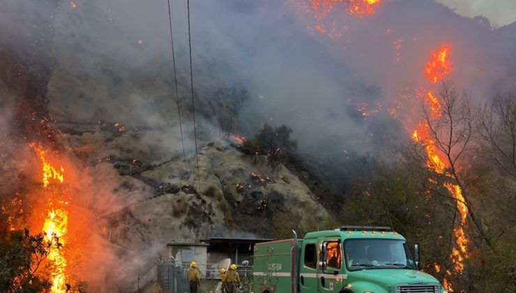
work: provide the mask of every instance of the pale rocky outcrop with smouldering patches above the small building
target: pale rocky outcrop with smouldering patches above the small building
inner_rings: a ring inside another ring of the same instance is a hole
[[[176,158],[136,174],[135,179],[160,186],[145,200],[107,216],[111,240],[144,246],[158,239],[167,243],[236,234],[275,237],[291,229],[314,230],[330,220],[317,197],[283,165],[271,167],[266,158],[244,156],[228,142],[200,150],[200,192],[195,160],[186,167]],[[164,192],[163,186],[182,188]]]

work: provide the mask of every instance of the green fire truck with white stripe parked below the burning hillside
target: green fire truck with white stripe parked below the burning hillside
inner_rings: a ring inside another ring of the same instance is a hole
[[[294,232],[294,231],[293,231]],[[419,246],[390,227],[344,226],[257,243],[255,293],[446,293],[419,270]]]

